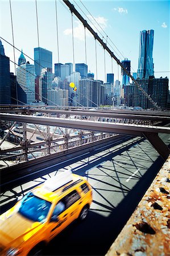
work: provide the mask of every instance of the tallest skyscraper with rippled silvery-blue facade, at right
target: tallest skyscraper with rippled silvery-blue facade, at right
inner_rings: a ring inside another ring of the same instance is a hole
[[[154,76],[154,63],[152,58],[154,46],[154,30],[140,31],[138,78],[148,79]]]

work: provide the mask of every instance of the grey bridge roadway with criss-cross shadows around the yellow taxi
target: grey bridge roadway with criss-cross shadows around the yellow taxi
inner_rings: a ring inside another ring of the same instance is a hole
[[[169,145],[168,134],[161,134],[161,139]],[[45,255],[105,255],[160,170],[163,160],[147,140],[132,138],[96,148],[67,164],[47,167],[48,175],[7,191],[3,198],[13,192],[22,193],[30,185],[38,185],[54,176],[56,171],[71,168],[92,185],[93,203],[88,219],[81,224],[73,222],[49,243]]]

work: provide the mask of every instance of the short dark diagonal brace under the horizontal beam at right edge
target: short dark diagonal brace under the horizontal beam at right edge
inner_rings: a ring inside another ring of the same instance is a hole
[[[148,139],[148,141],[152,144],[152,146],[156,149],[157,152],[161,155],[164,160],[167,160],[170,150],[167,145],[160,139],[157,133],[143,133],[144,137]]]

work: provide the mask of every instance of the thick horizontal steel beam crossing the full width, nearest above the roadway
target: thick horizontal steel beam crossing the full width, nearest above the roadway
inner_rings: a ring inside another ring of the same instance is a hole
[[[35,117],[34,115],[0,114],[2,120],[16,122],[38,123],[41,125],[52,125],[69,127],[82,130],[105,131],[106,133],[118,133],[143,137],[143,133],[168,133],[169,127],[131,125],[125,123],[98,122],[87,120],[74,120],[53,117]]]

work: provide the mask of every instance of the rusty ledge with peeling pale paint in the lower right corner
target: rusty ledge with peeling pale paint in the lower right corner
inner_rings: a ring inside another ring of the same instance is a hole
[[[106,256],[170,255],[170,156]]]

